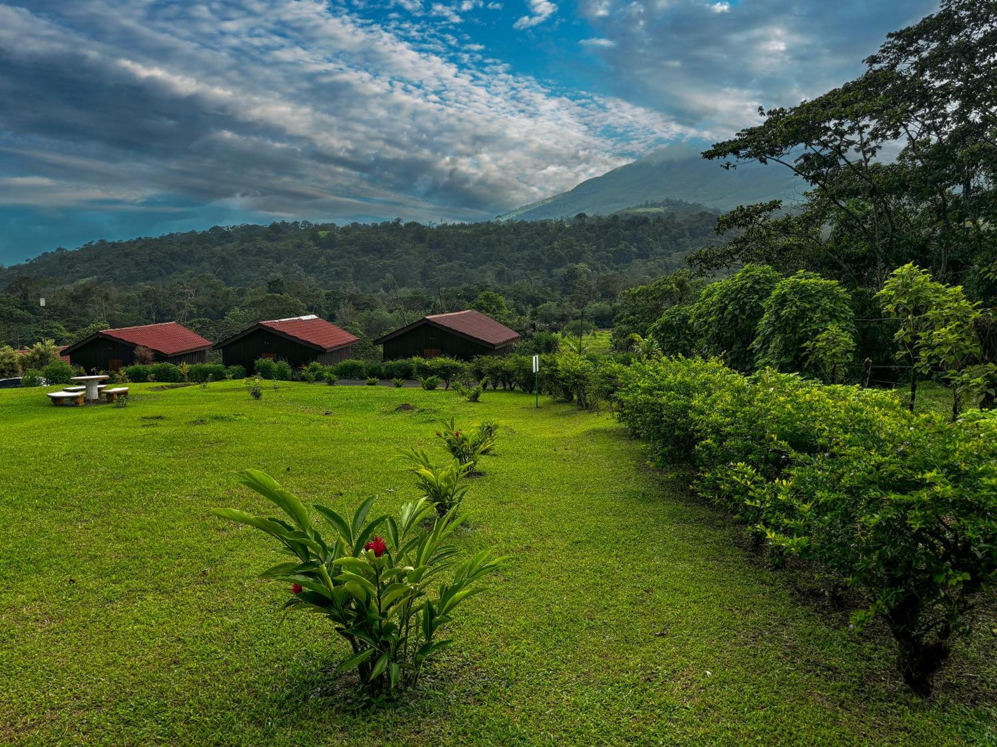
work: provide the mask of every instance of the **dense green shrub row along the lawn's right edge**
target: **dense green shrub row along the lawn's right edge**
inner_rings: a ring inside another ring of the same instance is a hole
[[[816,562],[883,620],[904,679],[932,677],[997,578],[997,413],[914,415],[891,392],[719,362],[619,374],[618,415],[772,554]]]

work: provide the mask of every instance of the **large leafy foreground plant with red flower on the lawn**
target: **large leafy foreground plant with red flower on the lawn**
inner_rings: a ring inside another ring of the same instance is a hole
[[[279,552],[291,559],[264,571],[263,578],[289,587],[285,610],[318,614],[333,623],[351,649],[339,669],[356,669],[374,703],[418,684],[424,664],[452,642],[440,638],[441,628],[503,561],[484,550],[457,563],[457,550],[448,541],[462,519],[451,512],[427,526],[434,507],[425,498],[402,506],[397,518],[371,520],[374,498],[349,521],[315,505],[323,529],[331,530],[323,536],[301,501],[269,475],[245,470],[241,478],[287,518],[231,508],[211,513],[255,527],[280,543]],[[445,571],[451,572],[447,583]]]

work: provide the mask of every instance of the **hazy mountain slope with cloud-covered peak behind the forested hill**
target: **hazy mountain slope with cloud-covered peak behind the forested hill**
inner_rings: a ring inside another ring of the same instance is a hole
[[[574,189],[517,207],[499,220],[605,215],[644,202],[682,200],[713,210],[771,199],[799,200],[802,182],[789,169],[750,163],[724,169],[688,144],[658,148],[632,163],[587,179]]]

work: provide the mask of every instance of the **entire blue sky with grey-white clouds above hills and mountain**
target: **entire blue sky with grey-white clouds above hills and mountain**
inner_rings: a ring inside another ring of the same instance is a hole
[[[924,0],[0,0],[0,264],[487,220],[861,73]]]

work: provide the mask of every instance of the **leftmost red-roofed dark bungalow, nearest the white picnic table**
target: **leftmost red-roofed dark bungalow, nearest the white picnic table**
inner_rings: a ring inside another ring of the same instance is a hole
[[[168,364],[202,364],[211,342],[176,322],[102,330],[68,346],[62,356],[84,371],[118,371],[136,363],[135,349],[148,348],[153,361]]]

